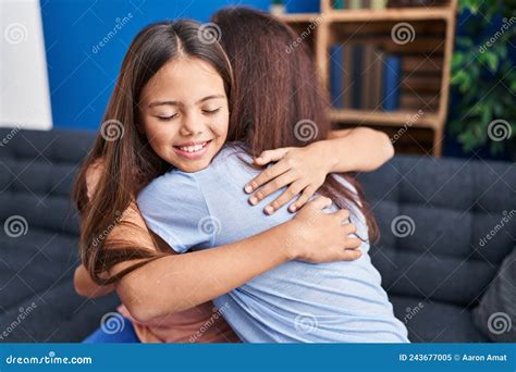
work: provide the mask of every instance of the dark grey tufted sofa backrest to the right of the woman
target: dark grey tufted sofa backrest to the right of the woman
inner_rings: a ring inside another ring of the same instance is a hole
[[[516,210],[515,164],[395,157],[359,179],[381,230],[371,256],[389,294],[475,306],[514,245],[516,219],[482,238]]]

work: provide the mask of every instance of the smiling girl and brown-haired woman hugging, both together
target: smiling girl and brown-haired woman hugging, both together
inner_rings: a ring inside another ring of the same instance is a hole
[[[212,22],[211,39],[192,21],[135,37],[103,120],[122,135],[102,128],[76,178],[75,288],[116,292],[127,325],[86,342],[408,343],[353,175],[390,139],[327,139],[328,99],[306,47],[284,52],[285,24],[244,8]]]

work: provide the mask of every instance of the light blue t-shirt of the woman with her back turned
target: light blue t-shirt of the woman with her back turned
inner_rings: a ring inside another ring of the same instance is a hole
[[[262,212],[282,190],[249,206],[243,187],[259,171],[238,158],[250,161],[226,146],[205,170],[174,170],[156,178],[138,196],[149,228],[182,253],[242,240],[291,220],[286,207],[272,215]],[[364,215],[357,209],[351,213],[357,235],[367,238]],[[363,256],[352,262],[290,261],[218,297],[214,305],[247,343],[408,342],[371,264],[369,245],[360,249]]]

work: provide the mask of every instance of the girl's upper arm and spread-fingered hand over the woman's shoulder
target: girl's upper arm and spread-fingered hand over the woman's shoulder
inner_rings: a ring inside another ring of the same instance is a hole
[[[288,207],[291,212],[302,208],[324,183],[329,173],[368,172],[384,164],[394,156],[390,138],[368,127],[339,131],[332,138],[306,147],[285,147],[263,151],[255,159],[258,165],[278,162],[253,178],[245,190],[253,206],[270,194],[288,186],[274,201],[265,207],[274,213],[285,203],[299,198]]]

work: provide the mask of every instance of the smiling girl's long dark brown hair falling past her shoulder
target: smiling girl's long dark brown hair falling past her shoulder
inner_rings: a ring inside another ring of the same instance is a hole
[[[208,30],[209,32],[209,30]],[[140,265],[168,255],[131,239],[107,238],[124,221],[135,196],[155,177],[171,168],[150,148],[138,123],[138,101],[145,85],[174,58],[191,57],[208,62],[222,77],[231,97],[233,77],[229,59],[201,25],[191,21],[162,22],[144,28],[131,44],[122,62],[100,134],[75,181],[73,199],[82,216],[79,252],[97,284],[109,284]],[[230,107],[231,108],[231,107]],[[87,172],[99,163],[100,179],[91,200],[86,188]],[[136,225],[132,225],[136,228]],[[107,277],[119,262],[144,259]]]

